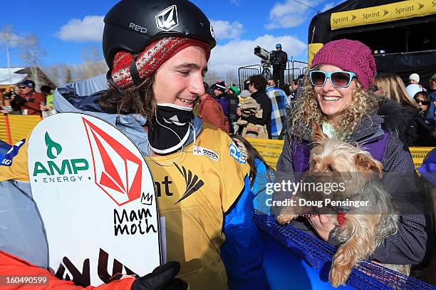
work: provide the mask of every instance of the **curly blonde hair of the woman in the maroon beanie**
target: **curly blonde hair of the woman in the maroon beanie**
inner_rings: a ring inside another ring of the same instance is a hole
[[[319,69],[316,66],[313,69]],[[321,107],[316,100],[313,86],[308,78],[309,70],[304,76],[304,89],[291,112],[288,115],[288,133],[296,137],[302,137],[311,133],[314,124],[327,122],[326,115],[321,111]],[[353,90],[353,100],[349,103],[341,115],[338,116],[336,125],[336,135],[341,140],[348,140],[355,127],[365,117],[373,113],[378,105],[378,100],[373,94],[369,94],[357,81]]]

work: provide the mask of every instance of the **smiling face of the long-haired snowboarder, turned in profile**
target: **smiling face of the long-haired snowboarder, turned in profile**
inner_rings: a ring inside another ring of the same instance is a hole
[[[157,69],[153,85],[155,102],[194,107],[194,101],[204,95],[206,71],[203,48],[188,46],[182,49]]]

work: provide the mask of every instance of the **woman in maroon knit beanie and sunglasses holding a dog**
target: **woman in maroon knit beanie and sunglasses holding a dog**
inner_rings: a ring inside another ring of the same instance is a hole
[[[378,114],[378,97],[368,92],[375,72],[370,48],[360,41],[331,41],[316,53],[305,78],[303,94],[289,115],[276,176],[286,174],[286,178],[291,179],[292,172],[308,170],[311,128],[318,124],[330,138],[357,143],[361,147],[370,144],[368,152],[383,165],[382,182],[386,189],[389,191],[395,186],[396,195],[410,194],[415,188],[414,179],[402,177],[393,182],[387,175],[387,172],[414,175],[415,167],[408,148],[396,131],[383,126],[385,120]],[[284,194],[274,195],[274,199],[288,198],[281,195]],[[323,214],[300,217],[292,224],[331,244],[338,244],[332,236],[336,224]],[[427,248],[427,239],[424,214],[400,214],[398,231],[375,249],[371,259],[384,264],[419,264],[431,250]]]

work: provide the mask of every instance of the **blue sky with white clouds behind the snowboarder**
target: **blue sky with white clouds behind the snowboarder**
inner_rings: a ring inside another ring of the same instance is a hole
[[[281,43],[289,59],[307,61],[308,26],[314,9],[326,11],[340,4],[330,0],[192,0],[212,21],[217,46],[209,70],[224,73],[260,63],[255,46],[271,51]],[[103,17],[117,0],[21,0],[2,3],[0,30],[11,25],[16,38],[35,34],[45,54],[40,66],[83,62],[83,51],[101,51]],[[17,5],[17,3],[19,3]],[[6,13],[7,11],[7,13]],[[1,38],[1,37],[0,37]],[[25,66],[17,46],[10,50],[11,66]],[[103,58],[103,54],[100,54]],[[0,41],[0,67],[6,68],[6,49]]]

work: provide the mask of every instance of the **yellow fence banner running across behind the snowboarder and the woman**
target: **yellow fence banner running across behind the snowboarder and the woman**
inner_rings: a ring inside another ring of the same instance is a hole
[[[40,120],[42,120],[41,117],[37,115],[0,114],[0,140],[12,145],[19,140],[25,139]],[[247,138],[247,140],[264,157],[266,163],[275,169],[284,141],[255,138]],[[433,147],[409,147],[409,149],[412,153],[415,168],[417,168],[420,167],[425,155]]]

